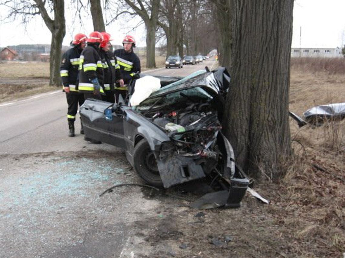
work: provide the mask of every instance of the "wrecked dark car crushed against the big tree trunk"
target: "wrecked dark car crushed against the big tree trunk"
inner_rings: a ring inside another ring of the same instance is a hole
[[[150,77],[157,79],[146,75],[136,81],[132,99],[140,80],[146,78],[152,87]],[[144,99],[135,105],[132,99],[132,105],[88,99],[80,107],[85,136],[124,149],[148,185],[168,188],[207,180],[212,192],[192,207],[239,207],[249,180],[221,132],[229,79],[225,68],[206,69],[183,79],[160,77],[159,89],[147,97],[139,94]]]

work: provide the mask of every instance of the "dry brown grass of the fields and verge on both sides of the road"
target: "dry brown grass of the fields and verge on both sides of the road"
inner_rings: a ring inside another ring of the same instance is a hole
[[[141,60],[142,67],[145,62]],[[164,57],[156,62],[157,66],[164,66]],[[47,85],[48,75],[48,63],[0,63],[2,101],[20,97],[21,92],[52,90]],[[345,102],[345,59],[292,60],[290,111],[302,116],[313,106],[339,102]],[[290,130],[296,155],[286,176],[279,183],[255,185],[260,194],[270,199],[270,205],[262,205],[246,195],[245,206],[238,211],[246,214],[236,223],[242,221],[252,228],[245,234],[246,242],[241,248],[248,248],[246,254],[252,251],[255,257],[272,257],[268,252],[272,249],[280,250],[276,257],[342,257],[345,121],[299,128],[290,120]],[[217,210],[208,213],[209,217],[213,215],[219,220]],[[215,221],[210,221],[209,227],[214,223],[213,229],[218,228]]]

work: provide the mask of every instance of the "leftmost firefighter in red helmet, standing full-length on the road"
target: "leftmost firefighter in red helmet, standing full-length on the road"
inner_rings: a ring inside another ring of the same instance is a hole
[[[86,46],[87,37],[85,34],[78,33],[74,36],[70,45],[73,47],[67,50],[61,60],[60,76],[62,80],[62,91],[66,92],[66,99],[68,104],[67,120],[69,127],[69,137],[75,136],[74,121],[76,121],[76,114],[78,111],[78,104],[81,106],[84,103],[84,94],[77,90],[78,85],[78,69],[79,58],[81,51]],[[80,133],[84,134],[83,126],[80,120]]]

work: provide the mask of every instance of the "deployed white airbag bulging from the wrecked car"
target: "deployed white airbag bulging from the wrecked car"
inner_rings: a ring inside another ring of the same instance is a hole
[[[160,80],[154,76],[144,76],[135,82],[134,93],[130,99],[131,106],[137,106],[152,92],[160,89]]]

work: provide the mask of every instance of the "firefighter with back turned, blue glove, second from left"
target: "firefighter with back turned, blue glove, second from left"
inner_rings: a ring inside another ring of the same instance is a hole
[[[90,33],[87,39],[87,46],[81,52],[79,63],[79,92],[84,93],[84,98],[101,100],[103,90],[103,67],[100,58],[100,44],[103,36],[98,31]]]

